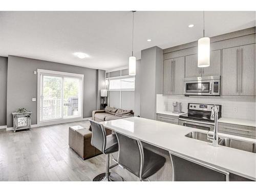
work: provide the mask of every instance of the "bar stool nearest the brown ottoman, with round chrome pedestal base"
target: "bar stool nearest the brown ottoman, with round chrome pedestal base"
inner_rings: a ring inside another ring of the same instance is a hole
[[[110,154],[118,151],[116,136],[113,134],[106,136],[106,132],[102,124],[91,119],[89,119],[89,121],[92,127],[91,144],[106,155],[106,172],[97,175],[93,181],[123,181],[119,175],[109,172],[110,168],[118,165],[115,164],[110,167]]]

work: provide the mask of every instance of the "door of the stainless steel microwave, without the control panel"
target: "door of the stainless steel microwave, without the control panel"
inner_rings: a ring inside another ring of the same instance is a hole
[[[212,80],[184,81],[185,95],[211,95]]]

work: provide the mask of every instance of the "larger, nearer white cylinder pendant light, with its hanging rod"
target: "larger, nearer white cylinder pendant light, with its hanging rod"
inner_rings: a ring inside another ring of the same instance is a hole
[[[204,13],[203,13],[204,15]],[[203,19],[204,20],[204,19]],[[210,38],[203,37],[198,39],[198,63],[197,67],[205,68],[210,66]]]

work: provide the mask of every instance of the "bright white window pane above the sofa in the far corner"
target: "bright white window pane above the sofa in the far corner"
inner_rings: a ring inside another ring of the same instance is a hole
[[[134,91],[135,77],[117,78],[109,80],[109,90]]]

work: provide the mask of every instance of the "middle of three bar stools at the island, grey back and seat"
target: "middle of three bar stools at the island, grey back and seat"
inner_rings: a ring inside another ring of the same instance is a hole
[[[164,165],[165,158],[146,148],[139,139],[116,132],[119,151],[117,162],[123,168],[139,177],[140,181],[154,175]]]

